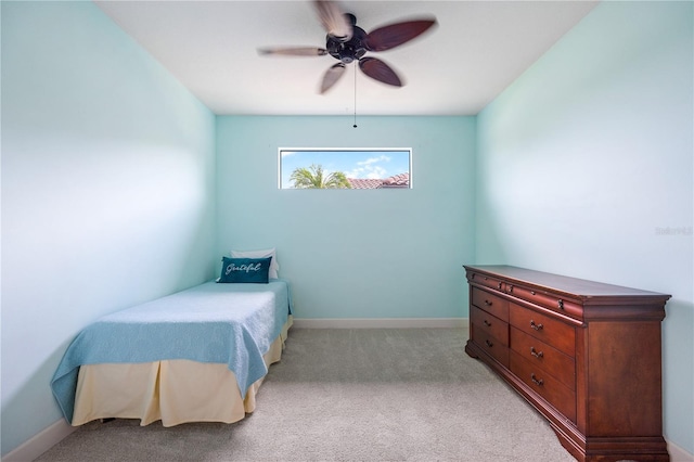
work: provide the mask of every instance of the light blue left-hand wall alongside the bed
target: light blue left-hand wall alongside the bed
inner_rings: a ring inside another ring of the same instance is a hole
[[[110,311],[211,278],[215,116],[91,2],[2,2],[2,453]]]

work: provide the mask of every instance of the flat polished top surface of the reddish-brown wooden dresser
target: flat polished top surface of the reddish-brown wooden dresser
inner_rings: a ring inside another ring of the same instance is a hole
[[[553,290],[555,292],[575,295],[583,299],[595,297],[646,297],[657,298],[665,301],[670,298],[670,295],[657,292],[605,284],[596,281],[570,278],[506,265],[463,265],[463,267],[468,272],[474,271],[490,277],[512,280],[517,284]]]

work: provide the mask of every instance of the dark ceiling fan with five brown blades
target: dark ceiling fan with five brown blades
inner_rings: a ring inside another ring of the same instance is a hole
[[[330,90],[345,74],[346,64],[357,61],[359,68],[369,77],[394,87],[402,87],[402,79],[383,61],[364,56],[367,52],[386,51],[406,43],[428,30],[435,18],[420,18],[378,27],[367,34],[357,26],[357,17],[343,13],[336,2],[314,0],[318,16],[327,33],[325,48],[274,47],[258,49],[260,54],[285,56],[323,56],[330,54],[339,62],[323,75],[320,92]]]

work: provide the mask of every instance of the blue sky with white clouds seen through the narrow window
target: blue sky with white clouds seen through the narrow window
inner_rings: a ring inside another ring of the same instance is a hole
[[[311,165],[321,165],[325,175],[342,171],[347,178],[385,179],[410,172],[410,150],[280,150],[281,188],[292,188],[294,169]]]

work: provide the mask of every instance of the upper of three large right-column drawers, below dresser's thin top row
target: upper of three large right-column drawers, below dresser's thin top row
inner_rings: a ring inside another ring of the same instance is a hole
[[[509,318],[514,328],[571,358],[576,356],[576,329],[573,325],[516,304],[509,304]]]

